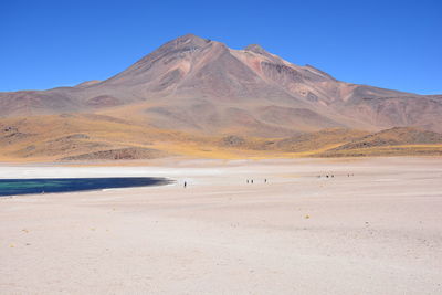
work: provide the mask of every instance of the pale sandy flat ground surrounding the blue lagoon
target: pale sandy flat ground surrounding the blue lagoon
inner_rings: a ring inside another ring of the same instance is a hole
[[[442,294],[442,158],[0,171],[177,180],[0,198],[1,294]]]

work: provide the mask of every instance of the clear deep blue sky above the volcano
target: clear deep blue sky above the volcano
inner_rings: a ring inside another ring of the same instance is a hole
[[[152,3],[154,2],[154,3]],[[442,94],[442,1],[0,1],[0,91],[105,80],[186,33]]]

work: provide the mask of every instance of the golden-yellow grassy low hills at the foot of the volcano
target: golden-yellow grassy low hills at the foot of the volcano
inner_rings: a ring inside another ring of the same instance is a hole
[[[1,161],[296,158],[442,155],[442,135],[414,128],[329,128],[290,137],[194,135],[105,115],[0,119]]]

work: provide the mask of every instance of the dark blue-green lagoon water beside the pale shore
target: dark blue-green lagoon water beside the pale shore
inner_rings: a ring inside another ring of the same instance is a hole
[[[0,197],[164,186],[171,182],[166,178],[152,177],[0,179]]]

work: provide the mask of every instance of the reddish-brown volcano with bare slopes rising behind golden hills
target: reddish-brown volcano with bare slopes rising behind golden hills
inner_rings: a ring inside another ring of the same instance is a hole
[[[11,118],[60,115],[105,116],[190,137],[283,138],[330,128],[440,133],[442,95],[350,84],[257,44],[234,50],[187,34],[105,81],[0,93],[0,117],[9,125]]]

